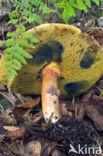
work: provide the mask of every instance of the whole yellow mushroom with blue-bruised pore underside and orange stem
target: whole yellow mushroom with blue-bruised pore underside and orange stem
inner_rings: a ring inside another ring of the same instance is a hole
[[[88,90],[103,73],[103,49],[80,29],[66,24],[43,24],[28,31],[39,39],[29,49],[33,58],[23,65],[12,89],[22,94],[40,94],[45,120],[61,117],[61,97],[77,96]],[[0,68],[4,62],[2,56]],[[0,82],[6,83],[4,70]],[[59,90],[58,90],[59,88]]]

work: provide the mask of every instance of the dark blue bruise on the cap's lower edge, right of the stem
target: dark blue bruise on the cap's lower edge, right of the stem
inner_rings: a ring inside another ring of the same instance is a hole
[[[87,88],[89,85],[89,82],[86,80],[78,81],[78,82],[71,82],[67,83],[64,86],[64,90],[70,95],[70,96],[76,96],[81,93],[82,90]]]

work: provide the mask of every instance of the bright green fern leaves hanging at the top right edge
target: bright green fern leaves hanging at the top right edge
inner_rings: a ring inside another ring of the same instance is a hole
[[[52,0],[49,0],[52,1]],[[63,9],[60,17],[68,24],[68,20],[71,17],[76,16],[75,9],[88,12],[88,8],[91,8],[91,2],[94,1],[97,6],[100,5],[100,0],[54,0],[58,8]],[[103,1],[103,0],[102,0]]]

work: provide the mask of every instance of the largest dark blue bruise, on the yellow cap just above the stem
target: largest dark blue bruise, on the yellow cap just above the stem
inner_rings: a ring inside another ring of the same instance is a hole
[[[32,54],[33,58],[30,59],[28,63],[41,65],[51,60],[61,62],[61,54],[63,53],[63,50],[63,45],[60,42],[49,41],[37,48],[36,52]]]

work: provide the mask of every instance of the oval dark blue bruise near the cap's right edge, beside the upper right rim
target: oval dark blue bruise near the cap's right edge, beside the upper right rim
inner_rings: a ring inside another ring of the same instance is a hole
[[[80,66],[83,69],[88,69],[95,63],[96,56],[93,53],[86,52],[80,61]]]

